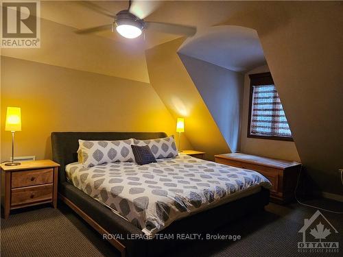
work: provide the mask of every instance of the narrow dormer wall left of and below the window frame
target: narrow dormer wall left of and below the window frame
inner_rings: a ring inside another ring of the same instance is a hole
[[[284,160],[300,160],[294,142],[247,137],[250,96],[249,74],[263,73],[268,71],[269,69],[267,65],[260,66],[252,71],[249,71],[244,76],[244,97],[241,117],[241,152],[245,154],[255,154]]]

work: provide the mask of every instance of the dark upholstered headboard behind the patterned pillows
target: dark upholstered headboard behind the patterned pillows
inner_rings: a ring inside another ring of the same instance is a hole
[[[165,132],[52,132],[52,158],[60,164],[58,182],[66,181],[65,166],[78,161],[79,139],[82,140],[124,140],[137,138],[141,140],[163,138]]]

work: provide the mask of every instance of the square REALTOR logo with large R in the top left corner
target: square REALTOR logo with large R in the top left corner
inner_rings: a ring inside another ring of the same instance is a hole
[[[40,1],[1,1],[1,48],[40,47]]]

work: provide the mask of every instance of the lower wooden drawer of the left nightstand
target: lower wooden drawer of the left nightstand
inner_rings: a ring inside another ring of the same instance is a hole
[[[47,201],[52,199],[53,184],[27,186],[12,189],[11,206]]]

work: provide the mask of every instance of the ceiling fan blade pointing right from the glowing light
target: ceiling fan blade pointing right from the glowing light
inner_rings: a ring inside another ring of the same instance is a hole
[[[196,34],[196,27],[178,25],[172,23],[155,23],[155,22],[145,22],[145,27],[147,29],[154,29],[158,32],[164,32],[176,35],[193,36]]]

